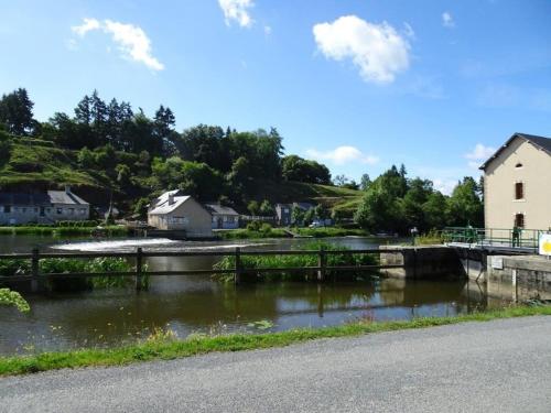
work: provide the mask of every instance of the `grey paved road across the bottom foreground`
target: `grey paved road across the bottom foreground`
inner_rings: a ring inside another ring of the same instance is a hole
[[[0,379],[2,412],[550,412],[551,317]]]

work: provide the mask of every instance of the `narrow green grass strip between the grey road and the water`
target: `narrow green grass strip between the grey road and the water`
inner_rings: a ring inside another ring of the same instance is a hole
[[[443,326],[464,322],[488,322],[497,318],[551,315],[551,306],[520,306],[456,317],[415,318],[409,322],[355,323],[337,327],[301,328],[259,335],[193,336],[179,340],[172,334],[133,346],[112,349],[83,349],[66,352],[44,352],[33,356],[0,358],[0,376],[24,374],[63,368],[122,366],[138,361],[169,360],[214,351],[242,351],[283,347],[320,338],[354,337],[370,333]]]

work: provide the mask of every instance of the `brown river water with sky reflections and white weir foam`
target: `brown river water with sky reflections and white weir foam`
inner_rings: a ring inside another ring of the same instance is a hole
[[[333,238],[328,242],[352,249],[376,247],[386,240]],[[395,240],[396,241],[396,240]],[[235,248],[291,249],[304,239],[191,242],[168,239],[56,239],[0,236],[0,252],[133,251]],[[150,258],[155,270],[210,268],[215,257]],[[464,281],[404,281],[374,278],[337,283],[273,282],[222,284],[208,275],[153,276],[148,291],[133,289],[24,294],[30,314],[0,307],[0,354],[104,347],[147,338],[165,328],[179,337],[193,333],[276,332],[293,327],[322,327],[358,319],[409,319],[484,308],[486,301]]]

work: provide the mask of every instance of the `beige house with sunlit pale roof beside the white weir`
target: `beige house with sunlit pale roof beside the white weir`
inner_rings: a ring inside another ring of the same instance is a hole
[[[185,231],[187,238],[213,236],[210,213],[190,195],[169,191],[148,209],[148,225],[161,230]]]

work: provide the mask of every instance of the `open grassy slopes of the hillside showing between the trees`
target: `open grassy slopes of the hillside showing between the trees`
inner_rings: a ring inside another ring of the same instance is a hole
[[[140,197],[154,192],[151,176],[140,173],[138,155],[115,153],[117,164],[125,164],[131,171],[129,182],[117,180],[114,165],[104,170],[84,169],[78,161],[78,151],[56,148],[52,142],[30,139],[12,139],[9,153],[0,161],[1,191],[35,191],[60,188],[71,185],[73,189],[95,204],[106,204],[112,191],[119,207],[129,211]],[[361,192],[329,185],[301,182],[273,182],[256,180],[251,199],[268,199],[272,204],[312,202],[336,208],[350,215],[359,203]],[[245,209],[244,206],[240,206]],[[244,210],[245,211],[245,210]]]

